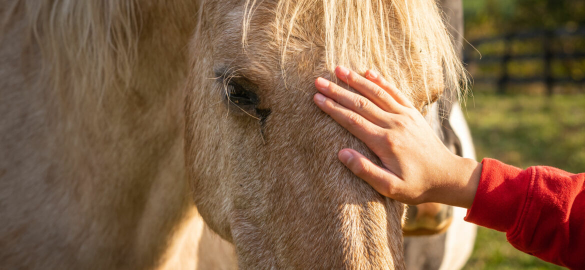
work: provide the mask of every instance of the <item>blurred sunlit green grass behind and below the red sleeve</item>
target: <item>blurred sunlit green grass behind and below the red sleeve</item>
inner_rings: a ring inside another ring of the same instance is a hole
[[[585,172],[585,95],[476,94],[464,110],[477,158],[517,167]],[[464,269],[563,269],[515,250],[504,233],[480,228]]]

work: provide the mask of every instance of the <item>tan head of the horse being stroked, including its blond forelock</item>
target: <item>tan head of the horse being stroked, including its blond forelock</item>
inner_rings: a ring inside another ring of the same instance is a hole
[[[348,21],[340,39],[323,22],[337,12],[327,9],[331,3],[303,2],[202,6],[185,105],[193,198],[209,226],[236,245],[243,268],[404,268],[404,206],[383,198],[338,161],[344,147],[377,159],[314,105],[313,81],[334,79],[336,64],[394,72],[389,78],[422,108],[442,91],[441,62],[451,60],[428,49],[449,41],[443,33],[436,39],[441,44],[429,44],[394,29],[382,34],[387,44],[374,44],[369,41],[375,34],[357,32],[380,29],[376,18],[364,19],[362,26]],[[435,9],[430,14],[439,18]],[[388,18],[386,26],[403,23]],[[366,41],[349,40],[355,37]],[[391,40],[400,37],[412,41],[404,46]],[[359,50],[362,43],[369,47]],[[449,53],[450,45],[446,48]],[[402,56],[385,56],[389,53]]]

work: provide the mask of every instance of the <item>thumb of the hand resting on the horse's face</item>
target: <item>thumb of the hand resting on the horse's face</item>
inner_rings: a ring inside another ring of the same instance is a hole
[[[402,180],[393,172],[374,164],[353,149],[339,151],[338,158],[353,174],[362,178],[381,195],[395,199]]]

